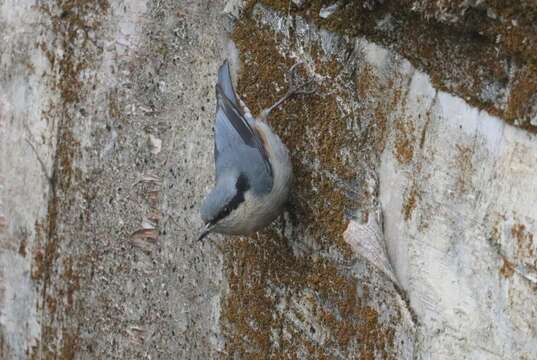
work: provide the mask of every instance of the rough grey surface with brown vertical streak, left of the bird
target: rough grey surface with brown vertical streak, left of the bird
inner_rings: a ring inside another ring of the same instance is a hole
[[[0,357],[218,353],[221,255],[192,242],[222,8],[3,2]]]

